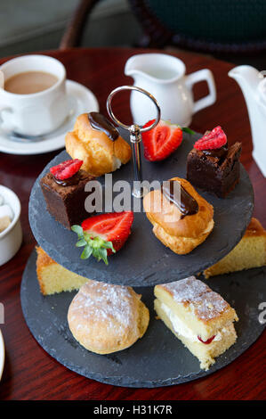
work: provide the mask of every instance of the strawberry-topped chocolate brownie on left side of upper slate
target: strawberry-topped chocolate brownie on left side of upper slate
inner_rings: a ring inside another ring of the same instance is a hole
[[[85,210],[85,185],[94,179],[81,169],[82,160],[67,160],[50,171],[40,180],[47,210],[60,224],[71,228],[88,217]]]

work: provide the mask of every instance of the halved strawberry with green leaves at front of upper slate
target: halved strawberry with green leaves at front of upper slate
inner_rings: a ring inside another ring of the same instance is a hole
[[[87,218],[81,226],[72,226],[79,239],[77,247],[85,246],[81,259],[93,254],[108,265],[107,256],[119,251],[131,233],[133,218],[133,211],[109,212]]]

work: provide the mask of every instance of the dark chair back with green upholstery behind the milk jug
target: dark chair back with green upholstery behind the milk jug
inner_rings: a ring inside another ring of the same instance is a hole
[[[212,53],[266,49],[265,0],[128,0],[145,32],[142,46]]]

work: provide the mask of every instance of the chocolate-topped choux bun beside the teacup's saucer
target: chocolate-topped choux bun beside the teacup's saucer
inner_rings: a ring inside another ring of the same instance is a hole
[[[79,115],[65,142],[72,159],[83,160],[82,169],[95,177],[113,172],[131,159],[130,145],[99,112]]]

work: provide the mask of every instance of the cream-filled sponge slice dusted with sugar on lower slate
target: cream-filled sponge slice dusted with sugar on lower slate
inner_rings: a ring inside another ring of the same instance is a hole
[[[157,285],[155,310],[165,325],[208,369],[237,340],[234,308],[194,276]]]

